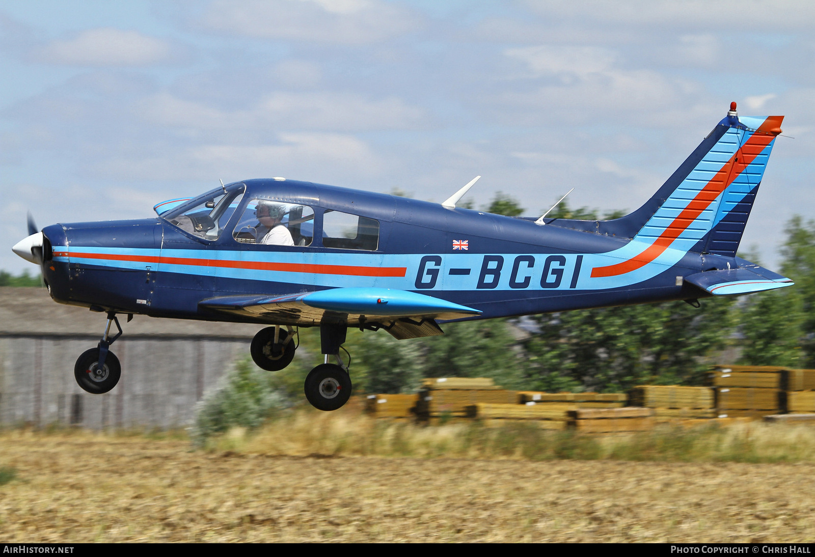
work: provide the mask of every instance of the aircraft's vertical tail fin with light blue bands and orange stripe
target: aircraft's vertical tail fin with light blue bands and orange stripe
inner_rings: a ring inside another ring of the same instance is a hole
[[[654,261],[667,248],[735,256],[783,116],[739,118],[735,103],[659,191],[637,211],[601,223],[642,251],[592,276],[613,276]]]

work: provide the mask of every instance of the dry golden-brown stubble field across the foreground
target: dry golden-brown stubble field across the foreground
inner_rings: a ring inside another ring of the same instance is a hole
[[[0,542],[813,542],[815,466],[268,457],[0,435]]]

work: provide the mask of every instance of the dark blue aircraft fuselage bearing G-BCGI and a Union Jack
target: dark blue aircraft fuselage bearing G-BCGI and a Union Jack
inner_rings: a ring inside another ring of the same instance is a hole
[[[51,296],[121,313],[267,322],[216,314],[199,302],[377,287],[421,292],[479,309],[479,318],[496,318],[707,296],[681,277],[725,269],[728,262],[736,266],[732,257],[669,248],[632,272],[593,276],[595,268],[630,259],[632,239],[558,226],[557,220],[540,226],[311,182],[242,184],[245,195],[217,239],[190,234],[165,218],[46,227],[53,257],[43,266]],[[239,215],[258,197],[313,208],[310,245],[236,241]],[[323,217],[332,212],[377,221],[377,243],[367,249],[327,247]],[[289,324],[313,323],[293,316]]]

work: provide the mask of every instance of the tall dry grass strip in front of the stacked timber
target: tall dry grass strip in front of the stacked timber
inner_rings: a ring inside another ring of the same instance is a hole
[[[715,422],[715,420],[712,420]],[[815,463],[815,427],[742,422],[726,427],[662,426],[607,436],[542,430],[531,424],[482,428],[478,423],[424,427],[369,419],[353,410],[301,410],[210,442],[213,450],[248,454],[479,458],[514,460],[635,460],[698,463]]]

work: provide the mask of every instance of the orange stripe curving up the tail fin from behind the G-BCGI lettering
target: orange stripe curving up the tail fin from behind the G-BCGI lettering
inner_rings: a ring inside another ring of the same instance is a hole
[[[627,261],[605,267],[595,267],[592,270],[592,277],[614,277],[630,273],[659,257],[716,200],[720,193],[738,178],[738,175],[756,159],[756,156],[764,151],[775,136],[781,133],[780,126],[783,119],[784,116],[769,116],[648,248]]]

